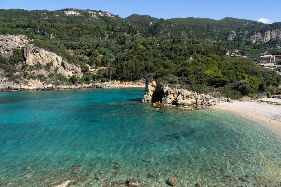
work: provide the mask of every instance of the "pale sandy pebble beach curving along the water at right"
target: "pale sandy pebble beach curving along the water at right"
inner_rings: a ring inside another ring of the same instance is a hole
[[[257,102],[219,103],[212,107],[261,124],[281,137],[281,106]]]

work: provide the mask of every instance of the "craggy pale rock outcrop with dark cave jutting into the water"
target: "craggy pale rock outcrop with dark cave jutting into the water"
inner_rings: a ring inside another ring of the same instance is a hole
[[[197,93],[185,89],[171,89],[155,80],[145,82],[145,95],[142,103],[158,103],[162,105],[189,106],[202,108],[214,106],[221,102],[233,102],[231,98],[214,98],[204,93]]]

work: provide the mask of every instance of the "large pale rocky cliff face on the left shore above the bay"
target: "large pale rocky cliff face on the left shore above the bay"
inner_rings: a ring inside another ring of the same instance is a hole
[[[24,47],[24,57],[25,64],[28,64],[25,70],[22,70],[22,64],[17,65],[17,72],[14,75],[19,75],[27,72],[28,74],[37,76],[48,77],[50,74],[62,74],[65,77],[70,77],[76,75],[81,77],[83,73],[81,68],[78,65],[68,63],[66,60],[63,60],[61,56],[58,56],[55,53],[41,49],[34,46],[33,44],[28,44],[29,40],[23,35],[0,35],[0,54],[9,59],[13,53],[14,49],[21,49]],[[46,69],[47,63],[53,62],[52,67]],[[39,65],[39,68],[30,68],[31,66]],[[7,82],[4,71],[0,70],[0,88],[6,88],[7,85],[14,85],[15,87],[38,87],[43,86],[45,82],[39,79],[25,79],[20,83]]]

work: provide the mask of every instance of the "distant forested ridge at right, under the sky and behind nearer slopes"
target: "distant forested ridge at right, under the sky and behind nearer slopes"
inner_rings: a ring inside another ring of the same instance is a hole
[[[181,31],[185,31],[190,37],[198,39],[207,39],[210,41],[227,40],[233,32],[239,31],[256,31],[276,29],[280,27],[281,22],[265,24],[262,22],[225,17],[221,20],[213,20],[209,18],[172,18],[158,19],[148,15],[133,14],[126,17],[125,20],[136,24],[145,29],[147,33],[153,36],[162,35],[179,35]],[[152,22],[152,25],[149,25]]]

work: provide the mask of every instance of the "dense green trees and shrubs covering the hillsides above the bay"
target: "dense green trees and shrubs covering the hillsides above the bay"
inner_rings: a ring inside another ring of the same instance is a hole
[[[280,49],[269,48],[269,44],[243,43],[239,39],[225,40],[233,30],[272,29],[280,26],[279,23],[270,25],[229,17],[219,21],[206,18],[164,20],[139,15],[121,19],[118,15],[100,16],[99,11],[89,14],[77,10],[81,15],[66,15],[63,11],[67,10],[0,10],[0,34],[24,34],[34,39],[30,43],[81,66],[84,73],[81,78],[52,74],[50,81],[56,84],[152,78],[201,92],[219,91],[232,98],[264,91],[280,92],[281,76],[275,71],[261,70],[253,63],[259,61],[261,52],[278,55]],[[154,24],[149,26],[149,22]],[[160,33],[164,27],[169,36]],[[211,42],[214,40],[220,41]],[[226,51],[233,53],[235,49],[248,59],[225,55]],[[22,50],[14,50],[10,59],[0,56],[0,67],[9,80],[47,79],[27,73],[16,77],[16,64],[23,61]],[[91,75],[86,73],[85,64],[107,68]],[[52,64],[45,68],[50,66]],[[25,68],[27,66],[22,65],[22,69]],[[32,68],[40,67],[28,67]]]

